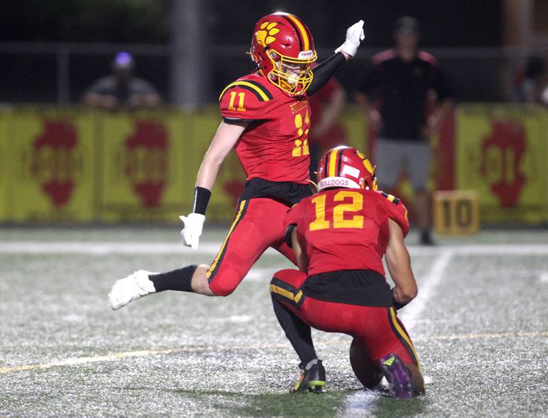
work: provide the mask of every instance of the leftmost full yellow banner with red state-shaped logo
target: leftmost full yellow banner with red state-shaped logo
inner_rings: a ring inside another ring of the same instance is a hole
[[[16,108],[10,138],[10,219],[92,221],[95,119],[89,110]]]

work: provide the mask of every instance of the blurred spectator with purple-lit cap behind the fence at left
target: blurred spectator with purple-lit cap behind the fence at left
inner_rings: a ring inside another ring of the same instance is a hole
[[[88,106],[118,110],[158,106],[160,95],[144,79],[134,77],[135,62],[130,53],[120,52],[112,61],[112,75],[98,79],[84,94]]]

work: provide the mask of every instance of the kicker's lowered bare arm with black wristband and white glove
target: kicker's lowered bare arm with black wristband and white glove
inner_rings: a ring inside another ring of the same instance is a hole
[[[179,217],[184,223],[181,241],[186,247],[198,249],[203,223],[206,221],[206,208],[219,167],[244,132],[245,127],[247,123],[221,122],[206,155],[203,156],[196,180],[194,208],[188,216]]]

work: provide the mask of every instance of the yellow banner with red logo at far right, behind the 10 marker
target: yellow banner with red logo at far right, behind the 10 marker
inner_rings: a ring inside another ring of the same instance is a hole
[[[456,183],[477,191],[482,221],[547,219],[547,116],[536,106],[459,106]]]

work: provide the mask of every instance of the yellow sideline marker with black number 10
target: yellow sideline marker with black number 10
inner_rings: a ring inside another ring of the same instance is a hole
[[[475,234],[479,229],[477,193],[472,190],[434,192],[434,228],[438,234]]]

